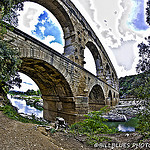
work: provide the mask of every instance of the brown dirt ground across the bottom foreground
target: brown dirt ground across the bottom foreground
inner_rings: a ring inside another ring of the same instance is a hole
[[[141,138],[138,133],[118,133],[106,136],[111,137],[111,143],[97,143],[94,148],[94,146],[86,145],[84,136],[74,137],[64,132],[47,134],[44,127],[36,128],[35,124],[11,120],[0,111],[0,150],[141,149],[137,143]],[[142,146],[144,150],[150,150],[149,140],[144,141]]]

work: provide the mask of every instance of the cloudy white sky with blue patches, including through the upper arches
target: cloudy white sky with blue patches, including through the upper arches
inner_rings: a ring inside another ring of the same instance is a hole
[[[145,21],[147,0],[72,2],[82,11],[82,15],[100,39],[118,77],[136,74],[135,67],[139,59],[137,45],[150,33],[150,27]],[[38,4],[25,2],[24,11],[19,13],[19,29],[63,53],[63,31],[57,19],[48,10]],[[96,74],[92,60],[93,57],[86,48],[85,68]]]

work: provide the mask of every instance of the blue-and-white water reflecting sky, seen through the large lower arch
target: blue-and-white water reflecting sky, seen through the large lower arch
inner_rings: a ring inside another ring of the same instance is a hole
[[[17,107],[19,113],[24,113],[28,115],[34,114],[36,117],[43,117],[43,111],[37,110],[34,107],[27,106],[26,101],[22,99],[14,99],[8,96],[13,106]]]

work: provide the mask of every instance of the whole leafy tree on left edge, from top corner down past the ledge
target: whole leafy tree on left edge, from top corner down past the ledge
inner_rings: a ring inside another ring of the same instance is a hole
[[[0,94],[5,96],[13,85],[20,86],[21,79],[18,67],[21,64],[17,49],[10,46],[11,40],[4,40],[7,32],[5,22],[10,26],[17,26],[16,10],[23,10],[24,0],[0,1]]]

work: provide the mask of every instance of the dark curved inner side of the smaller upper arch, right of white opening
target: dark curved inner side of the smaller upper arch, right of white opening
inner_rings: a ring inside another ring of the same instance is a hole
[[[102,65],[102,59],[101,59],[100,53],[93,42],[90,42],[90,41],[87,42],[86,46],[90,50],[94,58],[95,67],[96,67],[96,76],[101,77],[103,75],[103,65]]]

